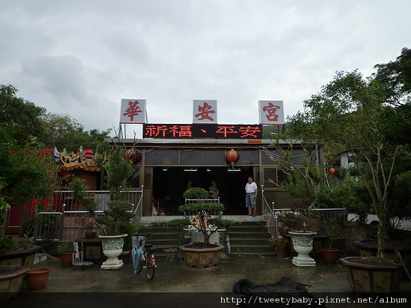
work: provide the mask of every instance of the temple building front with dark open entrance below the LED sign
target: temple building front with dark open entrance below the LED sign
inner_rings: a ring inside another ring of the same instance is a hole
[[[264,196],[276,207],[286,207],[288,192],[275,183],[284,180],[284,172],[275,165],[264,149],[275,152],[271,140],[238,139],[119,139],[127,149],[138,152],[134,172],[127,180],[129,189],[143,186],[142,216],[160,211],[165,215],[181,215],[187,188],[217,190],[225,215],[247,214],[245,184],[253,177]],[[283,146],[288,146],[284,143]],[[229,151],[238,153],[238,160],[227,162]],[[293,163],[299,164],[304,151],[293,146]],[[258,194],[258,214],[261,213],[261,193]]]

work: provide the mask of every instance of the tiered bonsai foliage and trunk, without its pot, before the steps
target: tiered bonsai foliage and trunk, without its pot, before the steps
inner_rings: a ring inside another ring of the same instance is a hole
[[[208,191],[203,188],[190,188],[184,192],[183,196],[190,199],[203,199],[208,196]],[[210,213],[219,213],[224,209],[224,205],[218,202],[194,202],[179,206],[178,210],[185,214],[192,214],[189,218],[170,220],[169,227],[192,226],[203,234],[203,243],[210,244],[210,236],[220,228],[227,228],[232,220],[212,217]]]

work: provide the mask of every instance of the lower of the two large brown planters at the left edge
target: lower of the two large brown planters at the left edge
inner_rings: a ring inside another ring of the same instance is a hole
[[[0,266],[0,300],[6,300],[20,292],[21,283],[28,270],[29,268],[21,265]]]

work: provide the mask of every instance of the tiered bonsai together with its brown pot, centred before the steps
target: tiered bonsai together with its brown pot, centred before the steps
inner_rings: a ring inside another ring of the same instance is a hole
[[[190,188],[184,196],[190,199],[203,199],[208,196],[208,192],[202,188]],[[179,206],[179,211],[191,214],[186,219],[170,220],[170,227],[187,227],[191,231],[199,232],[202,242],[192,242],[191,244],[179,246],[187,266],[203,268],[219,263],[221,251],[225,248],[221,244],[210,243],[212,234],[219,230],[224,230],[232,224],[232,220],[213,217],[210,214],[217,214],[224,209],[222,203],[194,201]]]

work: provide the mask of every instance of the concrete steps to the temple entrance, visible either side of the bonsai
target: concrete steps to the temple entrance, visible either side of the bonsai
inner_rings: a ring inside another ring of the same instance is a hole
[[[168,220],[175,218],[182,218],[182,216],[153,216],[141,219],[140,233],[153,233],[153,236],[148,237],[147,242],[157,248],[155,254],[158,256],[178,256],[178,246],[183,243],[183,231],[166,226]],[[231,255],[243,257],[275,255],[273,246],[268,244],[267,240],[271,235],[262,216],[224,216],[224,218],[234,220],[234,225],[229,227],[228,231]]]

